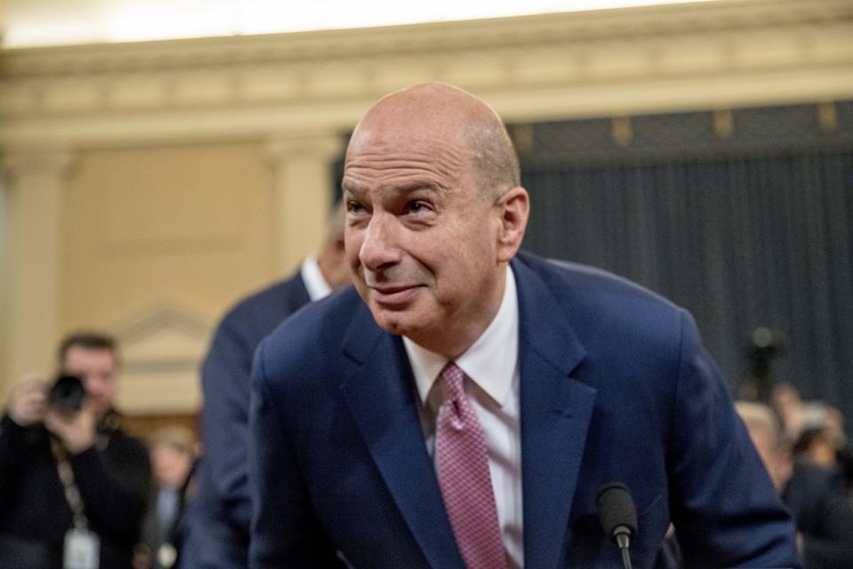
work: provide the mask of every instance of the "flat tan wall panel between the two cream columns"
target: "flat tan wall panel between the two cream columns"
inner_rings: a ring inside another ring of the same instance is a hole
[[[81,152],[63,194],[60,332],[160,306],[212,323],[272,279],[263,158],[257,144]]]

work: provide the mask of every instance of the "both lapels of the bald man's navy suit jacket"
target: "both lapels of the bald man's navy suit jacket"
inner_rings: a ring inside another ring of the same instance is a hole
[[[522,493],[525,567],[555,567],[568,534],[572,498],[595,390],[572,379],[586,351],[542,279],[513,261],[519,296]],[[462,567],[426,453],[411,367],[399,338],[359,307],[344,340],[355,372],[341,383],[382,481],[433,567]]]

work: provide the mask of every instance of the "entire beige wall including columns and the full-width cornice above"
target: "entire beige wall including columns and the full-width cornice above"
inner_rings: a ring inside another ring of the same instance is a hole
[[[392,89],[449,81],[514,123],[853,98],[849,0],[0,55],[0,397],[91,325],[133,413],[195,409],[211,326],[315,246],[339,135]]]

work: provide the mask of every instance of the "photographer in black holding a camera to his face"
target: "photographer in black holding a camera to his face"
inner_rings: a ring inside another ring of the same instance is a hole
[[[59,364],[80,383],[26,381],[0,422],[0,569],[130,569],[151,468],[113,408],[116,343],[72,334]]]

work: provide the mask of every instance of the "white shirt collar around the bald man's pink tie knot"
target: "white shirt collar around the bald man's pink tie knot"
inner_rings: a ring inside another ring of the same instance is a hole
[[[415,376],[421,402],[426,402],[433,383],[447,358],[403,337],[411,371]],[[498,314],[477,341],[456,359],[458,365],[498,405],[506,403],[518,365],[518,295],[513,269],[506,267],[504,298]]]

